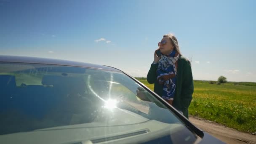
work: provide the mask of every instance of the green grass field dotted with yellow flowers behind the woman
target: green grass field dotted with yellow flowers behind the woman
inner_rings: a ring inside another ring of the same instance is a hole
[[[154,88],[146,79],[139,78],[148,88]],[[256,84],[209,84],[195,80],[195,91],[189,106],[189,114],[235,128],[256,132]]]

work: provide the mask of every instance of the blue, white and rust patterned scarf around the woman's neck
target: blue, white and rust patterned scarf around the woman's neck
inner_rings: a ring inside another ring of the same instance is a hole
[[[175,63],[178,59],[179,55],[175,57],[175,51],[172,51],[169,56],[162,55],[158,62],[157,80],[160,84],[163,84],[163,99],[173,100],[174,98],[177,74]],[[161,76],[167,76],[170,79],[163,80]]]

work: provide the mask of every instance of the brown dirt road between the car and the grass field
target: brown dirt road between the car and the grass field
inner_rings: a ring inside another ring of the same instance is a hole
[[[227,128],[223,125],[200,118],[189,117],[189,121],[201,130],[210,133],[212,136],[215,136],[227,144],[256,144],[255,135],[242,133],[232,128]]]

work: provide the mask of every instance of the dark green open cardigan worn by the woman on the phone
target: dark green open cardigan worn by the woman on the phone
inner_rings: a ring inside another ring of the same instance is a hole
[[[162,96],[163,85],[157,82],[157,64],[151,64],[147,74],[147,81],[150,84],[155,83],[154,91],[159,96]],[[179,57],[176,79],[176,90],[173,100],[173,107],[183,112],[184,116],[188,118],[188,107],[192,100],[194,92],[194,83],[192,77],[192,70],[190,62],[183,56]]]

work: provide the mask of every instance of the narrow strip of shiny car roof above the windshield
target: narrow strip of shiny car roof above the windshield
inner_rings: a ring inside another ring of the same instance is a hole
[[[93,69],[105,69],[110,71],[122,72],[120,69],[114,67],[90,64],[78,61],[68,61],[60,59],[47,59],[47,58],[37,58],[37,57],[27,57],[27,56],[0,56],[0,62],[16,62],[16,63],[31,63],[31,64],[53,64],[53,65],[64,65],[72,67],[87,67]]]

